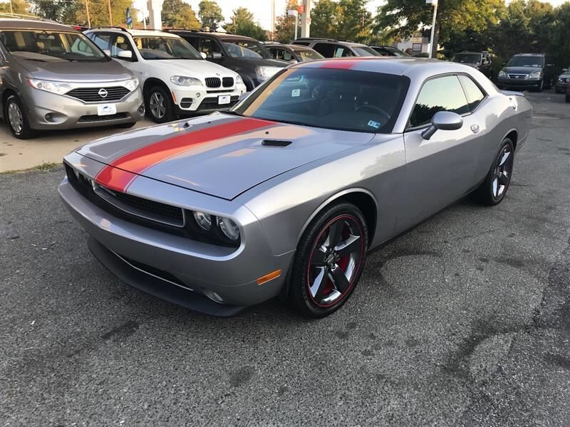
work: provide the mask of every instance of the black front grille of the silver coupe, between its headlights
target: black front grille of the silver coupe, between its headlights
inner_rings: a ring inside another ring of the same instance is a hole
[[[131,196],[120,191],[113,191],[99,184],[95,184],[94,191],[101,199],[128,214],[165,223],[169,226],[183,227],[185,224],[182,208]]]

